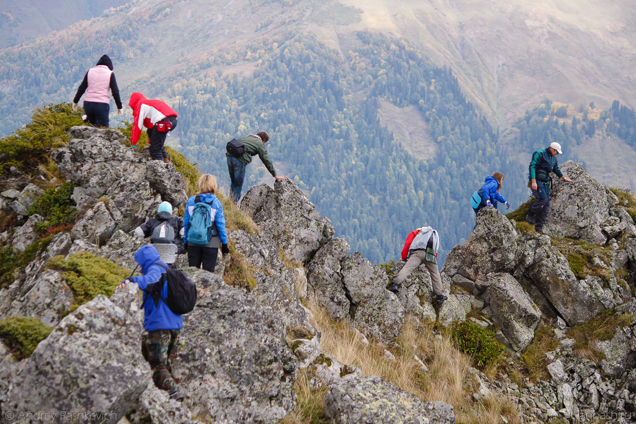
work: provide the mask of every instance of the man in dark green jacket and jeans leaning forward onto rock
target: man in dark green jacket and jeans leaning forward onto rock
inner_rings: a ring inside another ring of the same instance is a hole
[[[245,167],[252,161],[252,156],[261,158],[265,168],[277,180],[286,180],[287,177],[276,175],[276,170],[270,158],[267,156],[265,143],[268,142],[270,136],[265,131],[256,134],[249,134],[247,137],[241,137],[239,142],[245,146],[245,151],[240,158],[235,158],[230,153],[226,153],[228,160],[228,171],[230,172],[230,199],[232,202],[239,203],[240,192],[243,189],[243,180],[245,178]]]

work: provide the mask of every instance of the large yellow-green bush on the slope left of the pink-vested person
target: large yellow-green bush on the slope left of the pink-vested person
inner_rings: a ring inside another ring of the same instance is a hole
[[[85,124],[70,103],[36,109],[28,125],[0,139],[0,166],[33,172],[47,163],[53,150],[66,146],[69,130],[76,125]]]

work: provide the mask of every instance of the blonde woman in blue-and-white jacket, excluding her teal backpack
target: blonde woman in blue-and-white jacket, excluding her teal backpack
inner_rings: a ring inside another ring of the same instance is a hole
[[[225,231],[225,215],[223,214],[223,205],[221,201],[214,195],[216,189],[216,178],[210,174],[201,175],[198,179],[198,195],[191,196],[186,202],[186,211],[183,215],[183,245],[188,252],[188,265],[195,268],[203,268],[206,271],[214,272],[216,267],[216,258],[219,254],[219,246],[221,252],[226,255],[230,253],[228,249],[228,236]],[[212,209],[212,238],[205,245],[188,243],[188,230],[190,229],[190,217],[195,209],[197,198],[202,203],[207,203]],[[215,228],[216,227],[216,228]],[[203,265],[203,266],[202,266]]]

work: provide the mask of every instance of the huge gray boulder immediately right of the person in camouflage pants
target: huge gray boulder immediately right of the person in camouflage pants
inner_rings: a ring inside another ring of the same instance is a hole
[[[195,282],[207,287],[183,317],[183,347],[173,366],[193,415],[277,423],[296,404],[296,359],[282,318],[212,273],[201,284],[198,273]]]

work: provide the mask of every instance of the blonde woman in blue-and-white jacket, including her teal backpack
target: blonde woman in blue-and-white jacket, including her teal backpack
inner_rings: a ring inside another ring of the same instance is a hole
[[[223,255],[230,253],[225,231],[223,205],[216,197],[216,178],[210,174],[198,179],[198,194],[186,202],[183,225],[186,228],[183,243],[188,252],[188,264],[214,272],[219,246]]]

